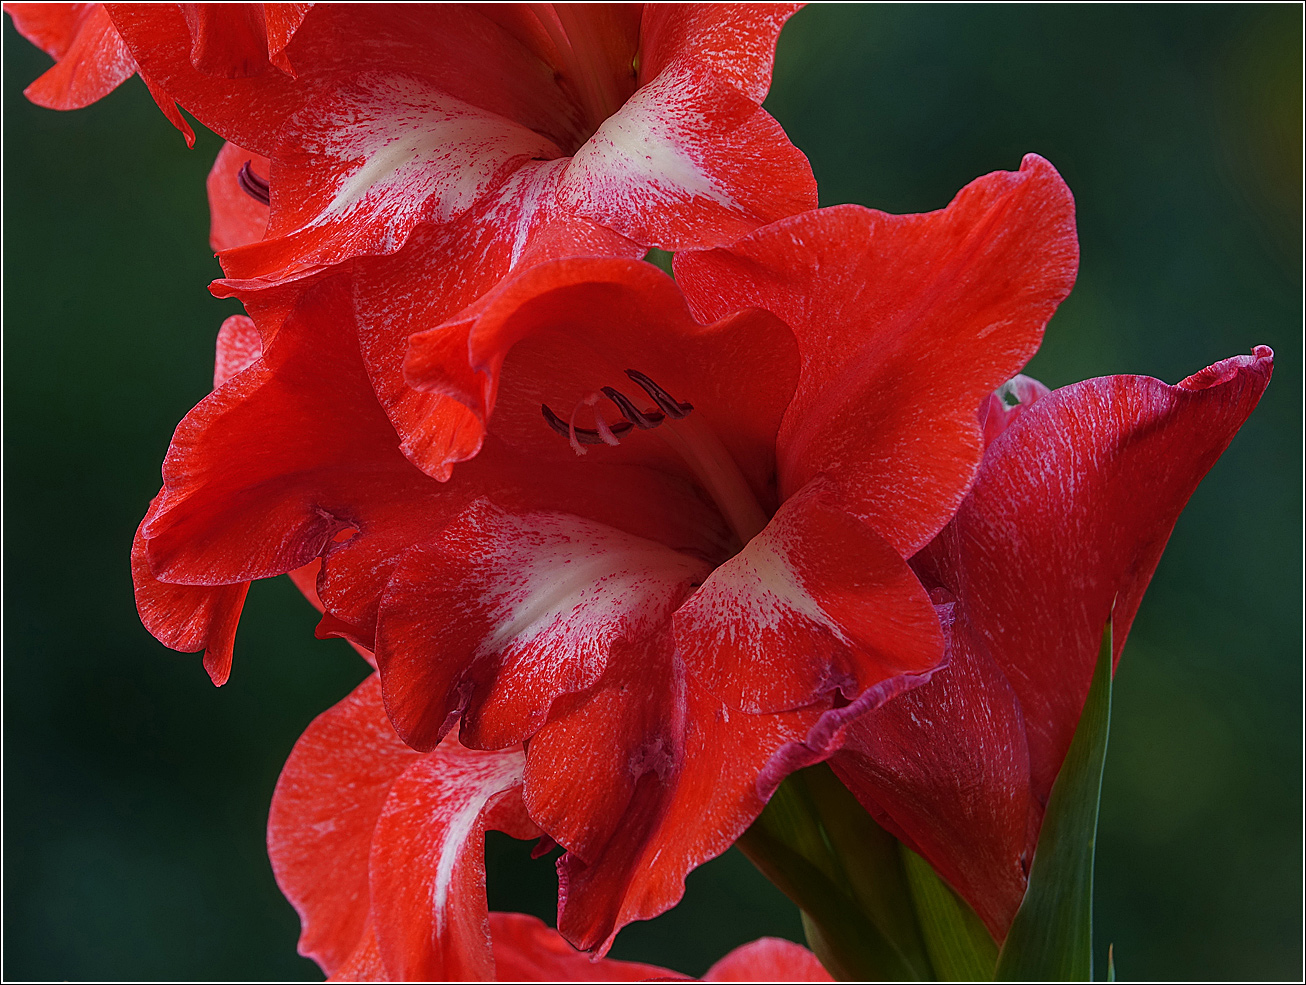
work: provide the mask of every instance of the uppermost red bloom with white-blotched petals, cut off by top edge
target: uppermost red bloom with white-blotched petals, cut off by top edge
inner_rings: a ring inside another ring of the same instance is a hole
[[[387,259],[355,272],[363,357],[438,478],[466,427],[405,387],[409,334],[512,269],[716,246],[816,205],[760,106],[795,5],[319,5],[281,51],[293,74],[265,59],[230,78],[196,60],[178,10],[108,9],[151,77],[234,141],[209,183],[213,290],[265,338],[325,272]]]

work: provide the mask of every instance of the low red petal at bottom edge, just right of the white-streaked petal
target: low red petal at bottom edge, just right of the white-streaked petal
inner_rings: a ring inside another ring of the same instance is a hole
[[[538,917],[491,913],[496,981],[648,981],[686,976],[656,964],[594,960]]]

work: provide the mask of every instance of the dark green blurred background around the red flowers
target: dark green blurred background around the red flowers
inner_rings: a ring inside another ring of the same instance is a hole
[[[279,579],[214,690],[141,628],[128,573],[234,311],[205,290],[219,141],[188,152],[138,80],[38,110],[48,59],[9,26],[4,55],[4,975],[320,977],[264,822],[364,668]],[[1301,975],[1301,67],[1297,5],[818,7],[777,55],[768,105],[823,204],[936,209],[1027,152],[1060,170],[1083,264],[1046,383],[1277,353],[1118,677],[1097,933],[1124,978]],[[551,879],[492,840],[492,905],[547,916]],[[799,929],[730,853],[615,954],[700,973],[759,933]]]

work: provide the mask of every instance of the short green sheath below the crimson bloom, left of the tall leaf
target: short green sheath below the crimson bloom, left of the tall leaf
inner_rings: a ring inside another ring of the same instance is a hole
[[[921,856],[899,845],[925,947],[940,981],[993,981],[998,945],[970,905]]]

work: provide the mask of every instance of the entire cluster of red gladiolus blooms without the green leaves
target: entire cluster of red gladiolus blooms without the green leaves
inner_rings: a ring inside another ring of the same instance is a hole
[[[231,141],[214,293],[249,317],[133,572],[215,683],[286,572],[377,668],[273,802],[304,954],[666,975],[487,914],[485,830],[565,849],[559,931],[603,954],[827,759],[1004,937],[1102,627],[1118,656],[1268,349],[1016,376],[1075,278],[1066,186],[1030,155],[940,212],[816,210],[760,107],[790,7],[9,10],[60,59],[34,99],[140,72]]]

